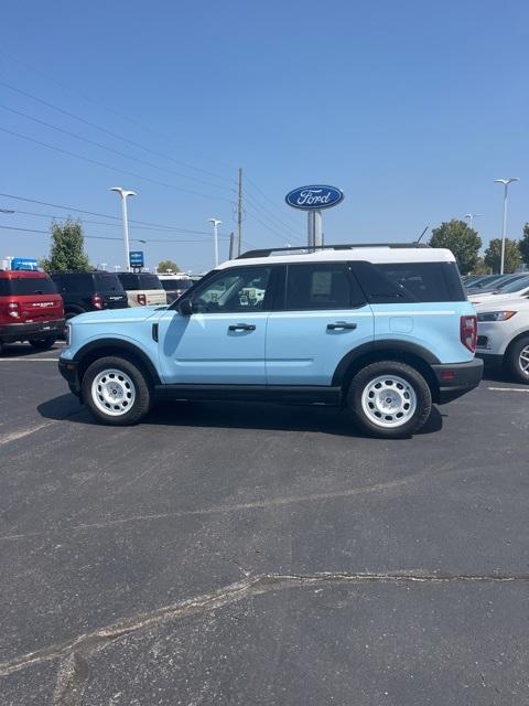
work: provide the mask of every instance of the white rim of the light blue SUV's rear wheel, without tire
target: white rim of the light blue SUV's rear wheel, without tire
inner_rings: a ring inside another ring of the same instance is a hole
[[[365,386],[361,408],[369,421],[377,427],[401,427],[415,414],[417,394],[403,377],[379,375]]]

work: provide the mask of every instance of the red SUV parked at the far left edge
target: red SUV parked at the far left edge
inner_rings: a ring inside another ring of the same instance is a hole
[[[0,270],[0,353],[15,341],[46,351],[63,332],[63,299],[45,272]]]

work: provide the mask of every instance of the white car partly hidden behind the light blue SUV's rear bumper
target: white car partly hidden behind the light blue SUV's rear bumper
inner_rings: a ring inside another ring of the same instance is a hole
[[[476,355],[529,385],[529,299],[495,298],[476,312]]]

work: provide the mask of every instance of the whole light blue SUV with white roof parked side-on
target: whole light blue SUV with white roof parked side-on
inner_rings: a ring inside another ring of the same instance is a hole
[[[399,438],[479,384],[476,317],[450,250],[252,250],[169,308],[76,317],[60,370],[101,421],[159,397],[328,404]]]

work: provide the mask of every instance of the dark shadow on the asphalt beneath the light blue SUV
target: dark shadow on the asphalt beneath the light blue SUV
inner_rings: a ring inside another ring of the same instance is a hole
[[[61,395],[37,406],[46,419],[96,426],[88,409],[74,395]],[[363,437],[348,415],[336,407],[222,402],[159,402],[139,425],[203,427],[216,429],[264,429],[273,431],[314,431],[344,437]],[[433,434],[443,427],[443,416],[433,407],[418,435]]]

